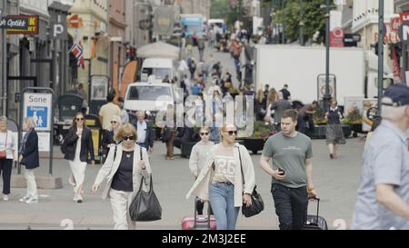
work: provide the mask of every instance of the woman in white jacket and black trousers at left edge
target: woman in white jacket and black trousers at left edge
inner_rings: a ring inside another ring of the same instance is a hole
[[[13,133],[7,130],[7,117],[0,117],[0,174],[3,176],[3,201],[9,200],[10,181],[13,161],[15,158],[15,139]]]

